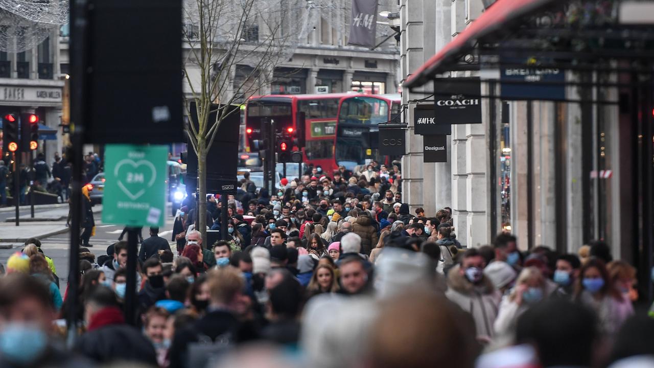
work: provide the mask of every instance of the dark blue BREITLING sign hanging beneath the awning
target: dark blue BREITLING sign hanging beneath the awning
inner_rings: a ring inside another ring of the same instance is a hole
[[[500,65],[500,94],[502,100],[551,100],[566,99],[566,73],[564,69],[528,66],[538,60],[502,58]],[[549,62],[548,64],[553,64]],[[525,66],[515,66],[525,65]]]

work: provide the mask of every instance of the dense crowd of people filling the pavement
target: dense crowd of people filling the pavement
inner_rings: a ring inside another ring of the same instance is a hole
[[[80,249],[70,350],[58,342],[75,303],[28,240],[0,278],[0,367],[654,366],[636,270],[603,242],[521,251],[502,233],[466,249],[451,209],[409,212],[396,168],[313,170],[273,195],[246,176],[224,209],[208,198],[211,227],[228,212],[227,240],[207,244],[190,203],[175,218],[177,252],[151,228],[133,321],[127,243],[97,259]]]

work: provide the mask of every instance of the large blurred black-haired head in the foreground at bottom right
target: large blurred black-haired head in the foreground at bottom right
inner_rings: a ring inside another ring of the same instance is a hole
[[[543,367],[589,367],[597,324],[594,313],[582,304],[549,298],[518,318],[515,339],[518,344],[532,344]]]

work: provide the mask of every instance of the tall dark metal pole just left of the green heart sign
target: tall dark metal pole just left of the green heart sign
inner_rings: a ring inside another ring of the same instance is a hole
[[[84,75],[86,73],[86,33],[88,28],[87,0],[70,2],[70,54],[71,54],[71,140],[72,149],[68,157],[72,164],[71,184],[73,185],[69,201],[71,202],[71,246],[69,249],[68,299],[71,302],[66,316],[68,328],[67,345],[71,348],[77,338],[77,305],[79,284],[79,242],[82,204],[82,134],[86,102],[84,93]]]

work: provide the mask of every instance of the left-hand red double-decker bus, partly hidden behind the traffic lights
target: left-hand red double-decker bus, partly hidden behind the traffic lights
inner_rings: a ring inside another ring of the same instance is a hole
[[[249,151],[252,139],[261,139],[262,118],[274,119],[279,134],[293,134],[298,130],[298,124],[301,124],[298,122],[298,113],[302,111],[305,113],[303,162],[320,166],[324,172],[334,170],[337,167],[334,161],[334,138],[339,101],[353,94],[273,94],[250,98],[245,107],[245,132],[248,136],[246,150]]]

